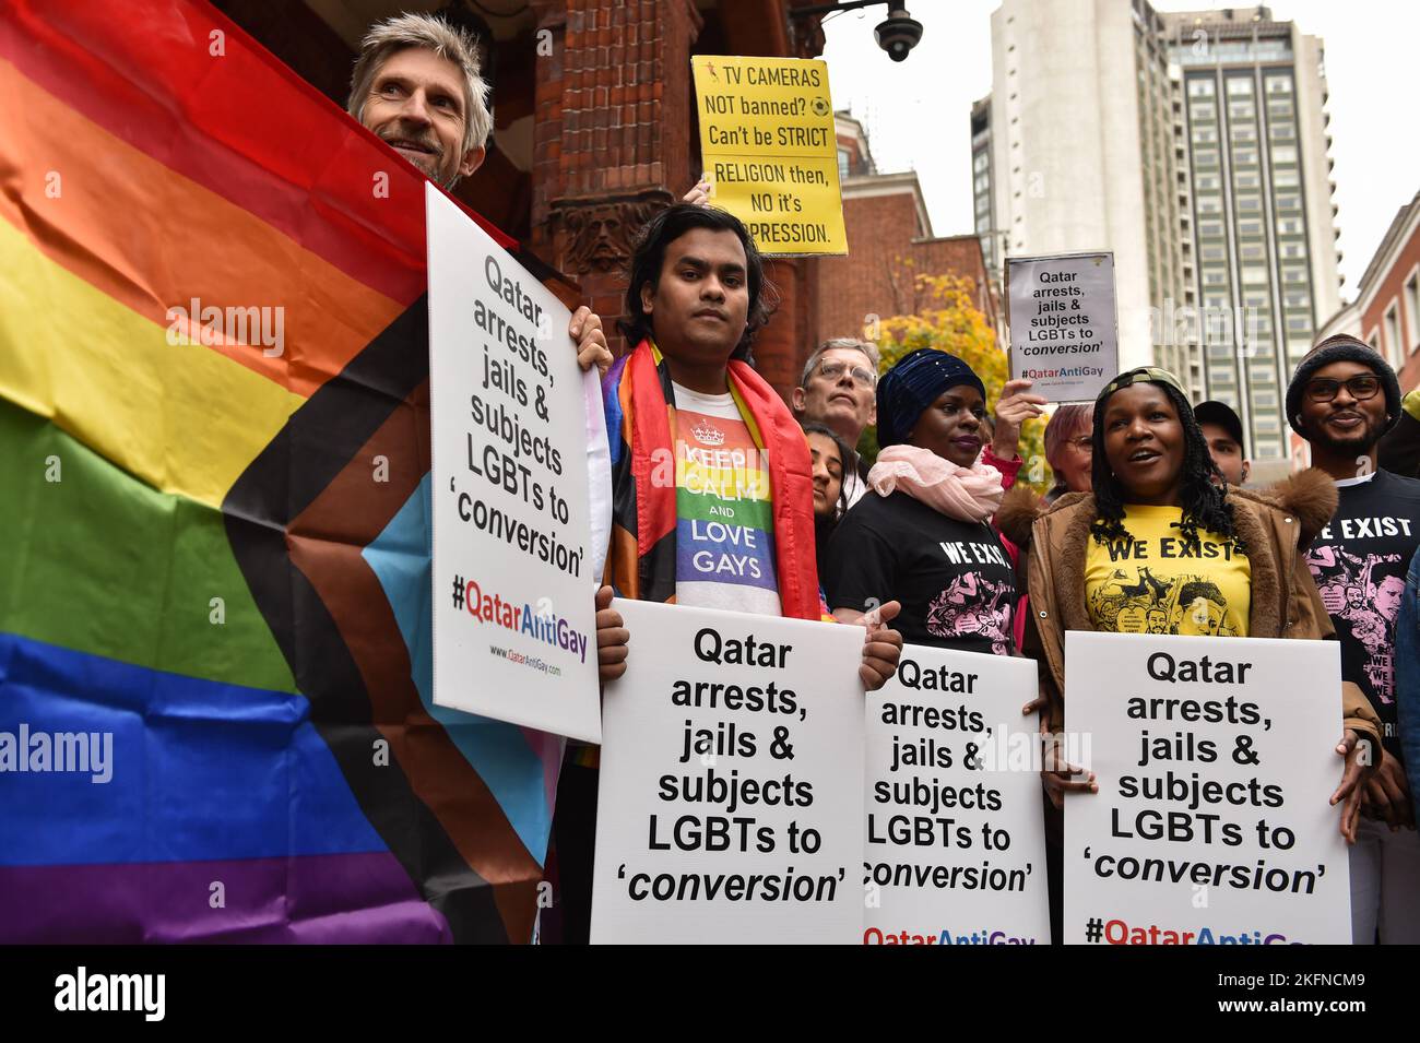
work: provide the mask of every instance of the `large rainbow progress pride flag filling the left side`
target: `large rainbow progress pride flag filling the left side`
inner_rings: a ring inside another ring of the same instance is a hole
[[[0,4],[0,941],[530,938],[561,741],[430,701],[425,287],[422,175],[207,4]]]

